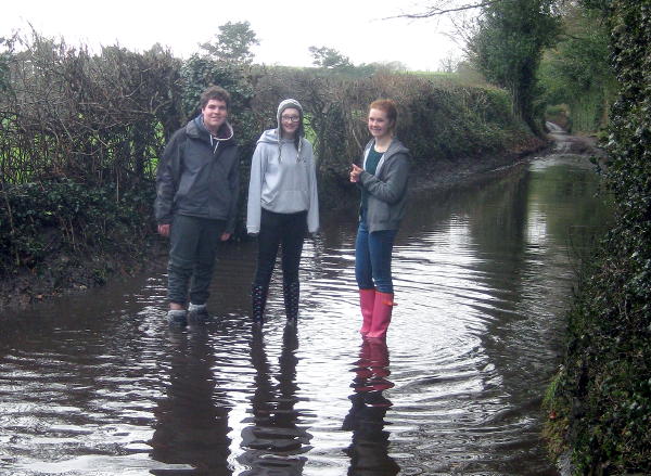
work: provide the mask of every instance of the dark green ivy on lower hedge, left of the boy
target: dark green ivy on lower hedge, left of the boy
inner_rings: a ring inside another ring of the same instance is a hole
[[[0,207],[0,272],[37,267],[66,255],[139,255],[149,229],[143,227],[154,193],[150,188],[119,195],[71,179],[7,186]]]

